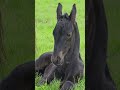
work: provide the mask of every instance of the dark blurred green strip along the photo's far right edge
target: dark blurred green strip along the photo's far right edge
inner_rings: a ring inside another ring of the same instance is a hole
[[[120,90],[120,0],[103,0],[108,23],[108,65]]]

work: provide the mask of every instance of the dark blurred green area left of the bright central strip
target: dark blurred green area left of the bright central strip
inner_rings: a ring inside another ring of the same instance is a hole
[[[0,80],[19,64],[35,59],[34,0],[0,0],[6,60]]]

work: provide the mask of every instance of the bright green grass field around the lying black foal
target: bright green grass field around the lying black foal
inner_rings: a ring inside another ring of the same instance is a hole
[[[56,24],[56,7],[60,2],[63,5],[63,13],[70,13],[72,5],[77,7],[77,18],[80,32],[80,53],[83,61],[85,60],[85,2],[84,0],[35,0],[35,57],[38,58],[42,53],[53,50],[53,29]],[[85,63],[85,62],[84,62]],[[35,82],[39,81],[35,78]],[[50,85],[35,86],[36,90],[58,90],[59,80],[53,80]],[[84,90],[85,78],[76,84],[75,90]]]

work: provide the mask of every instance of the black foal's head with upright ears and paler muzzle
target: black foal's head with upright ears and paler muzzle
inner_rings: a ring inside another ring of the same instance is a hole
[[[59,3],[57,7],[57,24],[53,31],[54,36],[54,52],[51,60],[56,65],[64,63],[64,57],[70,51],[75,41],[75,18],[76,5],[73,5],[70,15],[65,13],[62,15],[62,5]]]

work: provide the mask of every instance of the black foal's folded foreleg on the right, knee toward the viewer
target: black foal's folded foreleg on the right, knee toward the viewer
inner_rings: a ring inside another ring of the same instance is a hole
[[[78,83],[79,79],[83,76],[83,65],[76,64],[72,65],[66,69],[65,77],[61,83],[60,90],[73,90],[74,84]]]

